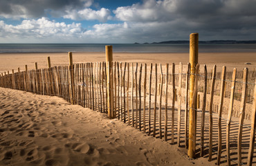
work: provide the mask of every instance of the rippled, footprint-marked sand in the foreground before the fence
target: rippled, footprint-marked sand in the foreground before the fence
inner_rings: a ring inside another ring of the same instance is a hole
[[[104,113],[0,88],[0,165],[214,165]]]

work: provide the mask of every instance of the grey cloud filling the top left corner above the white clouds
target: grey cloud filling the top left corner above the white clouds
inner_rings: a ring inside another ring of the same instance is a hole
[[[91,6],[91,0],[1,0],[0,15],[6,18],[35,18],[46,16],[46,12],[56,14],[88,6]]]

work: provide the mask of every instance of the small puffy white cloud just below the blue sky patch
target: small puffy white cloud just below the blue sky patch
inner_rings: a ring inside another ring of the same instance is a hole
[[[111,19],[111,12],[109,9],[101,8],[100,10],[92,10],[91,8],[84,8],[83,10],[66,11],[64,18],[74,20],[98,20],[105,22]]]

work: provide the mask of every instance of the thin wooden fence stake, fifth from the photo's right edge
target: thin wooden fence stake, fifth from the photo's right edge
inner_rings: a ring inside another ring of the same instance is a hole
[[[216,65],[212,69],[212,83],[210,88],[210,105],[209,105],[209,161],[212,160],[212,106],[213,106],[213,96],[214,96],[214,85],[216,80]]]

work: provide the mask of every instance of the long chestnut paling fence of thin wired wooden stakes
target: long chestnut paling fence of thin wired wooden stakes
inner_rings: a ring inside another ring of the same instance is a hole
[[[191,99],[196,107],[189,107],[190,64],[89,62],[50,66],[2,75],[0,86],[56,95],[102,113],[108,112],[107,93],[112,91],[114,117],[149,136],[185,148],[189,112],[194,109],[197,157],[216,160],[217,165],[255,164],[254,71],[226,72],[223,67],[216,73],[216,66],[208,72],[206,66],[198,65],[196,95]],[[107,77],[113,89],[108,88]]]

